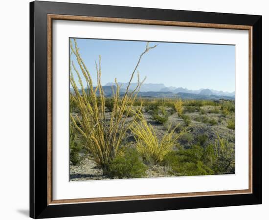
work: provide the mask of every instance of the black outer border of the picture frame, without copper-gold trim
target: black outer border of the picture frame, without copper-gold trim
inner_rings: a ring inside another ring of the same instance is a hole
[[[47,14],[251,25],[253,193],[47,205]],[[122,6],[30,2],[30,217],[53,218],[262,203],[262,16]]]

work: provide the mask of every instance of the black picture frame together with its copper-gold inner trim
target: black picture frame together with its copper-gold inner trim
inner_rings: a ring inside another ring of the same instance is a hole
[[[248,30],[247,190],[52,198],[52,21],[90,21]],[[262,203],[262,16],[92,4],[30,3],[30,217],[52,218]]]

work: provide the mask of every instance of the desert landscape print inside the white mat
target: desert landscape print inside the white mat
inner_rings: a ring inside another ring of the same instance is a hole
[[[69,39],[69,180],[235,174],[235,46]]]

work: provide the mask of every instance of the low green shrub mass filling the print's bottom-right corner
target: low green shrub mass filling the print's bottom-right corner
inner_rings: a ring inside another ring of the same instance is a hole
[[[217,133],[214,144],[206,147],[179,147],[164,156],[163,165],[172,168],[172,175],[194,176],[234,173],[234,146]]]

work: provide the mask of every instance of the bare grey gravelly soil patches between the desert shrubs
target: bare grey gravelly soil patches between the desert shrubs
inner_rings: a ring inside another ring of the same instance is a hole
[[[195,111],[192,113],[185,113],[191,119],[189,126],[186,126],[183,119],[178,117],[177,113],[174,113],[169,116],[168,122],[164,125],[158,124],[152,120],[150,113],[144,113],[144,117],[148,123],[150,123],[156,131],[157,136],[161,137],[168,129],[169,125],[176,126],[180,123],[179,131],[187,127],[187,130],[192,134],[192,139],[186,143],[179,140],[179,144],[185,148],[188,148],[192,144],[196,144],[198,137],[202,134],[208,136],[207,141],[204,143],[206,146],[209,143],[213,143],[217,138],[217,132],[220,137],[225,138],[229,144],[234,146],[235,133],[234,130],[227,128],[227,121],[232,117],[232,115],[224,116],[221,113],[209,113],[213,107],[203,106],[203,109],[206,113],[201,114],[201,112]],[[169,108],[167,108],[169,110]],[[109,113],[107,113],[109,114]],[[210,125],[208,122],[203,123],[199,121],[199,118],[207,117],[208,119],[215,119],[217,121],[216,125]],[[131,118],[128,118],[131,120]],[[134,136],[131,132],[127,133],[126,137],[127,142],[133,142],[130,147],[134,147]],[[81,154],[83,156],[83,154]],[[70,181],[81,181],[81,180],[96,180],[96,179],[109,179],[108,176],[104,176],[101,169],[96,167],[92,158],[85,157],[81,162],[81,165],[73,166],[70,164]],[[162,167],[159,165],[148,166],[147,177],[164,177],[169,175],[169,167]]]

